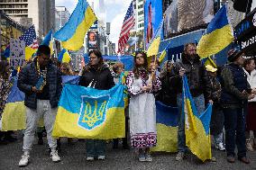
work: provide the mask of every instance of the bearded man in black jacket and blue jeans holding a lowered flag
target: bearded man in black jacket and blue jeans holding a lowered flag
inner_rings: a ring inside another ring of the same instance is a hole
[[[178,123],[178,155],[177,161],[184,158],[186,148],[185,115],[182,114],[182,76],[187,76],[189,90],[197,107],[197,112],[205,112],[205,101],[213,103],[210,99],[211,85],[205,67],[197,55],[194,43],[187,43],[181,59],[174,64],[175,76],[170,77],[170,83],[175,84],[177,92],[177,105],[180,113]]]

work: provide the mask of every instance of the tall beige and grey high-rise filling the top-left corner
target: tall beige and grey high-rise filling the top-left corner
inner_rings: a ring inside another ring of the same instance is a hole
[[[0,0],[0,10],[25,27],[34,24],[39,38],[55,27],[54,8],[55,0]]]

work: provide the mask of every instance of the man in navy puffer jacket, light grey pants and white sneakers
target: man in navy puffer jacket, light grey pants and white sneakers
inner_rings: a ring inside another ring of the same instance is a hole
[[[61,94],[61,76],[59,69],[50,61],[50,48],[41,45],[33,62],[22,68],[18,78],[18,87],[25,94],[26,129],[23,137],[23,157],[19,166],[27,166],[30,150],[38,121],[44,119],[48,144],[51,149],[50,157],[53,162],[60,158],[56,150],[57,141],[51,136],[57,114],[59,96]]]

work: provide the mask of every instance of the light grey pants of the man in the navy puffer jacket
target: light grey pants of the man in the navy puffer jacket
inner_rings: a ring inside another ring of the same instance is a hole
[[[52,149],[56,149],[57,141],[51,136],[53,125],[56,119],[57,108],[52,109],[50,107],[49,100],[37,100],[37,109],[32,110],[26,108],[26,129],[24,131],[23,138],[23,151],[29,151],[32,149],[32,142],[34,139],[34,133],[38,126],[38,121],[41,116],[43,117],[45,130],[47,132],[48,145]]]

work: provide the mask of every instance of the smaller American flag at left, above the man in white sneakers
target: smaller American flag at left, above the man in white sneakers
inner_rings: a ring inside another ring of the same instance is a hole
[[[20,37],[20,40],[26,42],[26,46],[31,47],[32,49],[38,49],[34,25],[25,31],[25,33]]]

